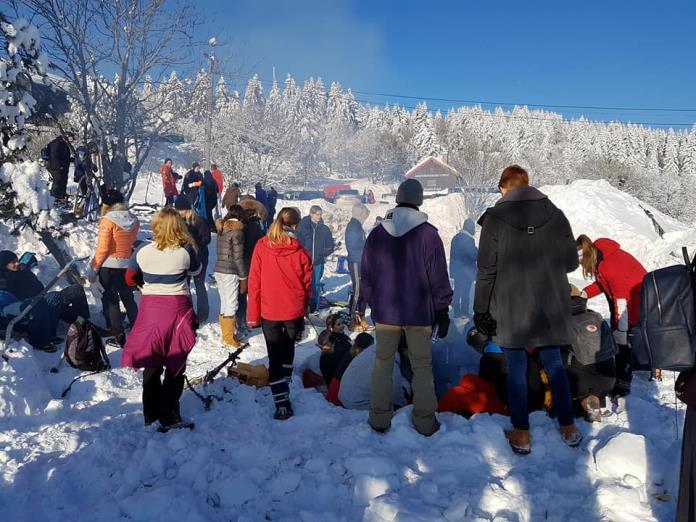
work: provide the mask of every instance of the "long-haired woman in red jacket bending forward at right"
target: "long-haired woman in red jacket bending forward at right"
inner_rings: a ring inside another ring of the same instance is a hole
[[[616,354],[616,386],[612,392],[614,402],[631,391],[633,377],[631,348],[628,332],[640,322],[640,287],[647,273],[643,265],[620,245],[607,238],[592,242],[586,235],[576,240],[578,257],[585,278],[594,278],[594,283],[581,293],[592,299],[604,294],[611,311],[611,328],[619,346]]]

